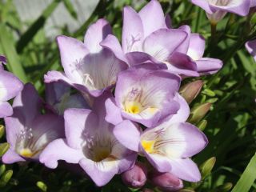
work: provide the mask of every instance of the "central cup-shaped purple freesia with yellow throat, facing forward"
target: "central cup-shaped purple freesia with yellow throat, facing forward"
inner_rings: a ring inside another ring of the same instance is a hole
[[[118,75],[115,98],[106,101],[106,121],[114,125],[130,119],[156,126],[179,109],[174,96],[180,78],[163,70],[134,68]]]

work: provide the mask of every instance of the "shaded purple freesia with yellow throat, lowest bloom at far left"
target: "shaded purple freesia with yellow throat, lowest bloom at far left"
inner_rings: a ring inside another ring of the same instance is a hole
[[[38,160],[49,142],[64,136],[63,118],[55,114],[41,114],[41,106],[42,100],[30,84],[26,84],[14,98],[14,114],[5,118],[10,149],[2,156],[2,162]]]

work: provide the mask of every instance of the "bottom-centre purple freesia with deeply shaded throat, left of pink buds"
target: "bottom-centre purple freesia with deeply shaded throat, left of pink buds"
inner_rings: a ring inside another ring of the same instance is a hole
[[[66,138],[51,142],[40,156],[40,162],[50,168],[58,160],[79,163],[97,186],[104,186],[114,174],[134,166],[137,154],[127,150],[114,138],[113,126],[105,121],[102,106],[106,94],[96,98],[92,110],[69,109],[64,113]]]

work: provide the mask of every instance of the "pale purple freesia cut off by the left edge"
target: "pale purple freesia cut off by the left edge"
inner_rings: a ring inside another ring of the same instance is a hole
[[[0,118],[5,118],[13,114],[13,109],[8,100],[14,98],[23,88],[23,83],[3,69],[2,63],[6,63],[6,58],[0,56]]]

